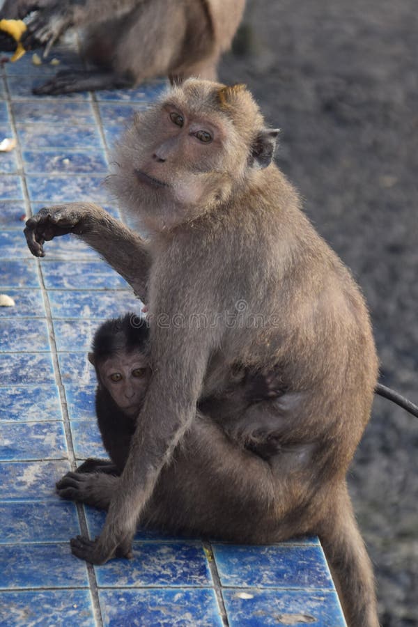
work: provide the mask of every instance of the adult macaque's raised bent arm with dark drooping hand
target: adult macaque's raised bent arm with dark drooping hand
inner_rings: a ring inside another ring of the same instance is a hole
[[[45,242],[67,233],[74,233],[98,251],[141,300],[146,298],[151,258],[139,235],[93,203],[41,209],[29,218],[24,229],[29,249],[36,257],[45,256]]]

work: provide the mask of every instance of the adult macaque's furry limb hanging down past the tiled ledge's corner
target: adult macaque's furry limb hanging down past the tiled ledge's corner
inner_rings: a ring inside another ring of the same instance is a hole
[[[347,625],[379,627],[373,568],[345,484],[331,507],[319,536]]]

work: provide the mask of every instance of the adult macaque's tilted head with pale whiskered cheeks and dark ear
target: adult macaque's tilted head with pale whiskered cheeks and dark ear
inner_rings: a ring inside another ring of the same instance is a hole
[[[265,128],[245,85],[187,79],[137,114],[116,151],[110,185],[148,228],[171,229],[260,176],[277,132]]]

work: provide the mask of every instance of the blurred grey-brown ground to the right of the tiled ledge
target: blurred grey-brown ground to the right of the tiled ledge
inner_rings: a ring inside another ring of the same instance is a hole
[[[281,128],[279,167],[369,302],[380,379],[418,403],[416,0],[250,0],[245,24],[220,76]],[[377,399],[349,483],[383,627],[418,625],[417,446]]]

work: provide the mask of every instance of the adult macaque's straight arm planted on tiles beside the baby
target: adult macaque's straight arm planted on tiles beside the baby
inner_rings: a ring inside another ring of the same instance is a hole
[[[169,268],[167,273],[170,274]],[[169,280],[167,276],[161,277],[161,284],[153,286],[157,289],[150,312],[159,320],[151,325],[153,376],[137,419],[137,431],[121,483],[111,500],[99,538],[72,541],[74,555],[93,564],[103,564],[116,555],[130,555],[137,520],[153,494],[162,467],[169,463],[173,450],[196,415],[208,359],[216,345],[216,331],[212,328],[202,332],[192,323],[181,330],[173,326],[171,312],[178,315],[178,311],[192,309],[194,313],[192,305],[185,306],[193,291],[189,284],[180,284],[176,299],[176,295],[164,289]]]

